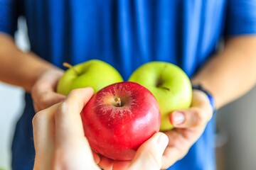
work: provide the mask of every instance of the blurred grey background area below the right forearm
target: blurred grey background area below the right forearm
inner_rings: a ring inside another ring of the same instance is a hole
[[[256,86],[217,114],[219,170],[256,169]]]

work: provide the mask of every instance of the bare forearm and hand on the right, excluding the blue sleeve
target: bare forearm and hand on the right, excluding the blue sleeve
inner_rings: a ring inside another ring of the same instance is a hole
[[[256,37],[241,36],[228,40],[222,52],[212,57],[192,79],[213,94],[216,108],[249,91],[256,82]],[[169,145],[162,168],[183,158],[203,133],[213,109],[203,91],[194,90],[191,108],[174,111],[170,121],[175,129],[166,132]]]

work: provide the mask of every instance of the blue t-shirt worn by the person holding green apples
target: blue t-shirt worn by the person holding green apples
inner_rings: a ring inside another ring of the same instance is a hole
[[[0,31],[14,35],[25,16],[31,51],[61,67],[100,59],[125,80],[145,62],[177,64],[189,77],[225,37],[256,33],[256,0],[0,0]],[[30,94],[12,145],[13,169],[32,169],[35,156]],[[171,170],[215,169],[214,118]],[[100,140],[100,139],[99,139]]]

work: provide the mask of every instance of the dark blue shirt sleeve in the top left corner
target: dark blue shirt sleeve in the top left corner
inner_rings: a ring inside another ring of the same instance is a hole
[[[17,1],[0,0],[0,33],[14,35],[17,28]]]

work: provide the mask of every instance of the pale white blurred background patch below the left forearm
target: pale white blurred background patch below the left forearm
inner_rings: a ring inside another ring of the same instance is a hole
[[[11,141],[23,109],[23,90],[0,83],[0,167],[10,168]]]

